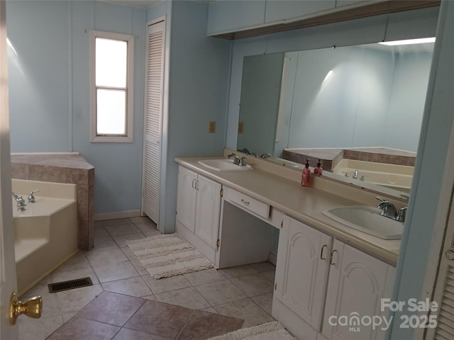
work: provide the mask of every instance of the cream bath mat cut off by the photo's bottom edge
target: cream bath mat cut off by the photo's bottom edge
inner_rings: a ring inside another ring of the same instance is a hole
[[[208,340],[297,340],[277,321],[238,329]]]

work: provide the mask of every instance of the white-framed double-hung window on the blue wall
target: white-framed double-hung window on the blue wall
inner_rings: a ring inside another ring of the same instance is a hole
[[[90,137],[133,141],[133,35],[90,32]]]

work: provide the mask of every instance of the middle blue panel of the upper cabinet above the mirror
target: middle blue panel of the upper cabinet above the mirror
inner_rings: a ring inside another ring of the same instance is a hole
[[[335,8],[336,0],[266,1],[265,23],[283,23]]]

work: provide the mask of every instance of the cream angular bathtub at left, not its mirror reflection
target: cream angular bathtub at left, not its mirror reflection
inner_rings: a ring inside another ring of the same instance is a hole
[[[26,210],[13,200],[14,251],[18,295],[21,296],[77,252],[77,188],[75,184],[12,180],[13,193],[23,196]],[[35,193],[35,203],[27,196]]]

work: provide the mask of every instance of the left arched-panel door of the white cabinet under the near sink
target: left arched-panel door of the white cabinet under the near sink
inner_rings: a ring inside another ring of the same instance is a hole
[[[317,331],[321,327],[332,238],[285,216],[279,233],[275,296]]]

